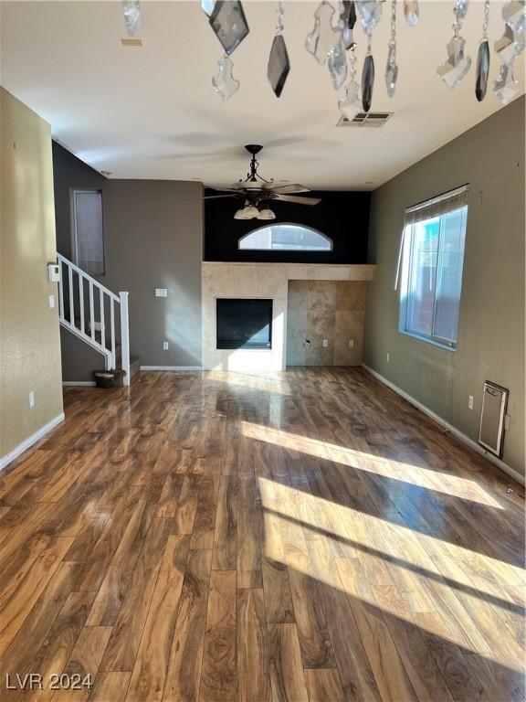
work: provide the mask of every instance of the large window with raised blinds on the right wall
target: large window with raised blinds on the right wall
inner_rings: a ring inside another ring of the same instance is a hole
[[[405,210],[400,331],[456,348],[468,186]]]

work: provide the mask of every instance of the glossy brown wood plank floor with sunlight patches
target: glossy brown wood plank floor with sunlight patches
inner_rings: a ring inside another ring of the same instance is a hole
[[[65,405],[0,481],[2,702],[524,699],[522,488],[363,370]]]

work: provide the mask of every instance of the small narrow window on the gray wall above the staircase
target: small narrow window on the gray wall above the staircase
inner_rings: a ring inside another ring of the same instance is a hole
[[[73,262],[89,275],[104,275],[101,191],[72,190],[71,219]]]

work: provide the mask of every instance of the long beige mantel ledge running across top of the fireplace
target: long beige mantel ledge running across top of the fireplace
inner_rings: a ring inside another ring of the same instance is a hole
[[[372,281],[376,266],[370,263],[272,263],[249,261],[203,261],[203,272],[226,268],[286,272],[289,281]]]

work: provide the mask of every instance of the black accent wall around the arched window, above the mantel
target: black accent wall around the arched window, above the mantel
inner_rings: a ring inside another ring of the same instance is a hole
[[[212,195],[211,191],[206,191]],[[205,261],[272,261],[289,263],[366,263],[369,230],[368,192],[317,192],[312,207],[274,201],[276,219],[234,219],[240,207],[237,198],[205,200]],[[246,251],[238,240],[265,224],[292,222],[318,229],[334,243],[331,251]]]

